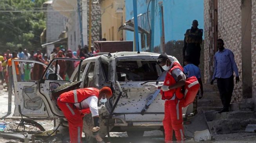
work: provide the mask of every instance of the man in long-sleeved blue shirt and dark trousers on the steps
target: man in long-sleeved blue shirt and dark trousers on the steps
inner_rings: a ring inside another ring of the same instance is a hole
[[[238,68],[231,50],[224,48],[224,41],[217,40],[218,52],[214,55],[214,73],[211,80],[217,79],[217,85],[222,100],[223,109],[218,113],[229,112],[229,104],[234,89],[234,75],[236,73],[236,83],[239,82]]]

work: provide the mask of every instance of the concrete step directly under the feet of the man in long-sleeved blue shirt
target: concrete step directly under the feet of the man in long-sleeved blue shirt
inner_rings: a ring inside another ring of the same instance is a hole
[[[232,112],[223,112],[221,114],[218,111],[205,111],[205,118],[207,122],[216,121],[222,119],[248,119],[256,118],[256,112],[253,111],[232,111]]]

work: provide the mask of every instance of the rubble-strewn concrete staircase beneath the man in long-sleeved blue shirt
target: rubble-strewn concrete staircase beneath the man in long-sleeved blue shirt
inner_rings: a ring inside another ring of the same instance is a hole
[[[256,112],[252,111],[251,108],[246,109],[245,107],[221,114],[216,111],[221,110],[223,107],[216,83],[214,85],[204,84],[203,89],[203,98],[198,99],[198,111],[204,111],[205,118],[212,133],[227,134],[243,132],[248,124],[256,124]],[[248,103],[245,102],[247,105]]]

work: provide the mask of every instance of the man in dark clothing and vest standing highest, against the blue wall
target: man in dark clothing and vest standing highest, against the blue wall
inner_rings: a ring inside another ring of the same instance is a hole
[[[191,63],[198,66],[200,64],[201,43],[203,40],[203,29],[198,29],[198,21],[193,20],[191,29],[187,29],[184,38],[183,59],[188,56]],[[184,62],[183,62],[184,66]]]

